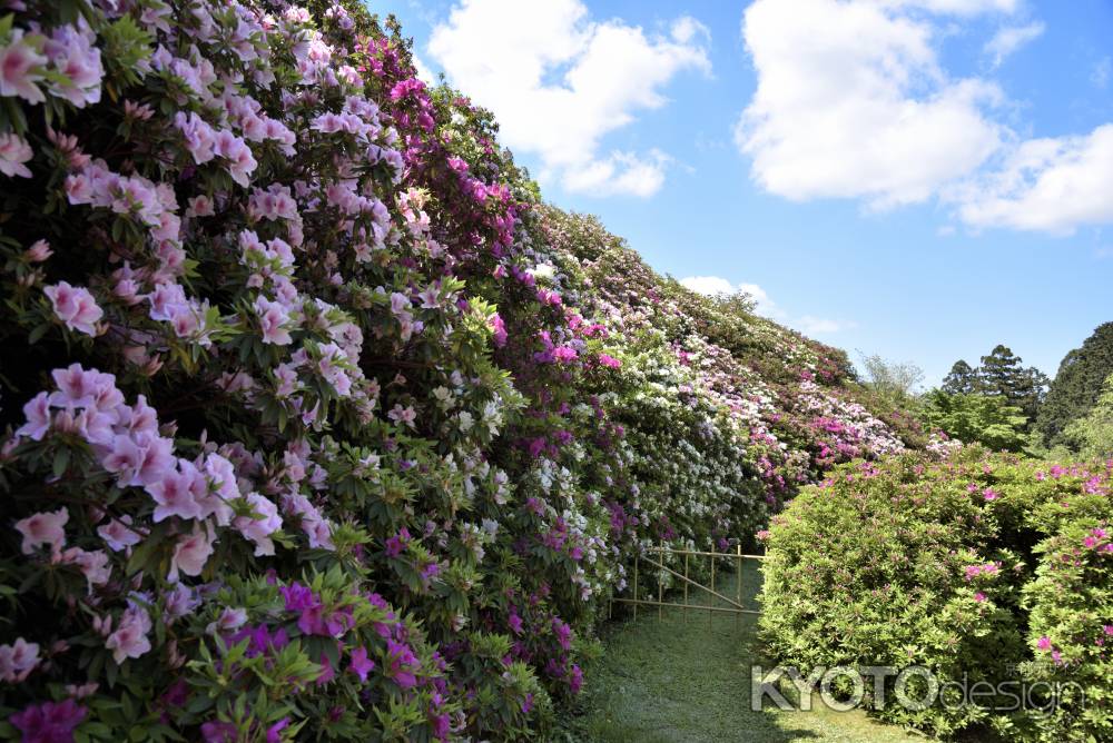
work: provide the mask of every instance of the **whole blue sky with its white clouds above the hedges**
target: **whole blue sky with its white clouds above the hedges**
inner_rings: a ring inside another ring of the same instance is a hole
[[[1113,1],[392,0],[558,206],[937,384],[1113,320]]]

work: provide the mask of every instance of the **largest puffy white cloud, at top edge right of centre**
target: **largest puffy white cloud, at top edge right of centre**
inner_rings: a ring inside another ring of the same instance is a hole
[[[924,201],[1002,143],[985,80],[952,80],[923,12],[1011,11],[992,0],[757,0],[743,34],[758,87],[736,127],[751,175],[794,200]]]

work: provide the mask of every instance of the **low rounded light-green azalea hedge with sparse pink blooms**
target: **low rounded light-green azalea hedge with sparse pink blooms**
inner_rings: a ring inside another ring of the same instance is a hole
[[[890,674],[866,704],[943,737],[1113,739],[1113,460],[968,447],[848,464],[765,538],[761,628],[805,675],[926,667],[935,692],[909,675],[905,706]]]

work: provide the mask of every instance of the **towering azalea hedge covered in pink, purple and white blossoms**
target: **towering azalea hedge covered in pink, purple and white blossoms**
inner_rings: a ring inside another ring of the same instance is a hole
[[[0,736],[529,737],[647,544],[923,444],[359,3],[8,7]]]

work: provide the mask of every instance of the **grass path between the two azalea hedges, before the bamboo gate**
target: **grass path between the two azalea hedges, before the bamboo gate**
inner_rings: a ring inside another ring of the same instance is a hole
[[[749,561],[747,561],[749,562]],[[720,592],[735,595],[735,576]],[[743,596],[756,607],[760,576],[742,572]],[[705,594],[706,596],[706,594]],[[692,595],[691,601],[703,603]],[[810,712],[750,709],[750,665],[757,652],[756,616],[642,607],[637,620],[614,622],[603,635],[605,653],[585,673],[575,717],[558,741],[599,743],[895,743],[917,741],[861,712],[838,713],[817,704]]]

